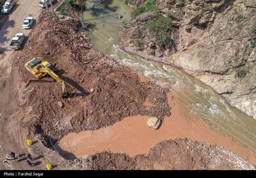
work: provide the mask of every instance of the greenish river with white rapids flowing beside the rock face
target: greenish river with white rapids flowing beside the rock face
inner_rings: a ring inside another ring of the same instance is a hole
[[[92,9],[94,5],[94,8]],[[119,29],[131,20],[131,8],[122,0],[88,1],[84,19],[93,24],[90,30],[92,43],[104,54],[115,58],[118,63],[143,75],[147,80],[172,89],[179,99],[180,110],[186,119],[202,118],[212,129],[246,145],[256,153],[256,121],[230,107],[211,87],[186,75],[172,66],[147,61],[127,54],[118,45]],[[118,18],[122,15],[122,18]]]

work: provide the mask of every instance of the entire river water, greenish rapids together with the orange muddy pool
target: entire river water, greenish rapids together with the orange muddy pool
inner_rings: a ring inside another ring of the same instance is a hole
[[[177,115],[177,117],[172,115],[172,117],[166,118],[159,131],[149,130],[145,126],[146,117],[141,117],[140,119],[131,117],[106,128],[106,130],[93,131],[93,133],[90,131],[87,133],[82,132],[78,135],[70,134],[61,140],[63,148],[67,149],[65,142],[67,143],[68,137],[70,137],[72,138],[71,140],[76,140],[72,141],[72,143],[69,142],[74,147],[77,144],[88,144],[88,147],[82,145],[83,149],[76,147],[76,154],[79,157],[102,149],[111,149],[113,152],[127,152],[133,155],[138,153],[138,150],[141,153],[147,152],[150,146],[154,145],[152,143],[160,142],[163,139],[188,137],[193,140],[225,146],[237,152],[237,154],[243,154],[243,157],[245,156],[244,154],[247,154],[244,158],[255,157],[255,120],[230,107],[221,96],[214,93],[211,87],[207,87],[193,77],[171,66],[147,61],[121,50],[117,45],[119,40],[118,29],[130,19],[131,9],[124,5],[121,0],[102,1],[104,2],[103,4],[100,4],[100,1],[97,2],[95,9],[92,10],[90,7],[93,6],[93,3],[88,1],[89,8],[84,12],[85,19],[94,24],[90,35],[95,48],[108,56],[114,57],[120,64],[131,68],[132,71],[138,72],[142,78],[147,78],[147,80],[155,81],[163,87],[172,89],[173,97],[179,103],[179,105],[176,104],[179,109],[175,111],[173,109],[175,107],[172,108],[173,115]],[[122,15],[123,18],[118,19],[119,15]],[[178,114],[175,114],[175,112]],[[182,117],[179,115],[182,115]],[[179,122],[175,120],[177,118],[181,118]],[[142,126],[145,128],[138,128]],[[127,127],[129,127],[130,131],[127,131]],[[125,144],[127,135],[132,134],[130,132],[136,134],[130,135],[132,137],[130,144]],[[144,132],[147,134],[144,134]],[[159,136],[157,136],[158,134]],[[143,137],[142,139],[142,136],[139,137],[140,135],[150,135],[148,137],[148,139],[150,138],[148,140],[150,143],[144,144],[144,142],[147,142],[146,138]],[[211,135],[214,135],[214,137]],[[93,140],[98,141],[94,142]],[[131,142],[136,143],[133,145],[140,145],[140,142],[143,142],[144,147],[142,145],[140,149],[131,147],[129,146]],[[121,143],[124,146],[118,147]],[[250,151],[244,152],[242,147],[236,143],[245,146]]]

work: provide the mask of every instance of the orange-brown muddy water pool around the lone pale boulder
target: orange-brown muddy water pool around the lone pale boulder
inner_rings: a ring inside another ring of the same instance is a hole
[[[79,158],[104,150],[135,156],[147,154],[154,145],[163,140],[190,138],[198,142],[220,145],[256,163],[253,151],[212,130],[202,119],[191,118],[187,121],[180,111],[180,101],[173,97],[173,93],[168,93],[168,101],[172,106],[172,115],[164,118],[158,130],[147,126],[146,115],[126,117],[107,128],[70,133],[60,140],[60,147]]]

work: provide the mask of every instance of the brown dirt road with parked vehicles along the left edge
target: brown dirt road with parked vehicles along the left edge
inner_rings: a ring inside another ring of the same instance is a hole
[[[38,19],[42,9],[38,6],[39,1],[34,0],[20,0],[17,2],[12,13],[8,16],[8,20],[0,31],[0,169],[10,169],[4,167],[3,156],[10,151],[17,154],[28,153],[26,144],[24,144],[25,134],[20,129],[20,118],[24,115],[25,111],[21,111],[16,106],[15,92],[10,89],[17,83],[17,73],[12,71],[13,61],[19,60],[19,51],[10,50],[9,43],[13,35],[16,33],[24,33],[29,38],[31,30],[22,29],[23,20],[28,16]],[[8,106],[8,107],[6,107]],[[13,163],[15,169],[28,169],[25,161],[20,163]],[[40,166],[35,167],[40,169]]]

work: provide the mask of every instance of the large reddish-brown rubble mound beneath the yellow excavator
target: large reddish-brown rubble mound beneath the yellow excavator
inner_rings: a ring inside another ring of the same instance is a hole
[[[32,106],[35,115],[26,124],[59,139],[70,132],[109,126],[130,115],[170,115],[167,89],[140,82],[138,75],[97,52],[89,40],[76,22],[56,23],[41,15],[15,63],[23,93],[20,102]],[[67,85],[67,99],[61,99],[58,82],[31,83],[24,88],[34,78],[24,68],[33,57],[56,64]]]

